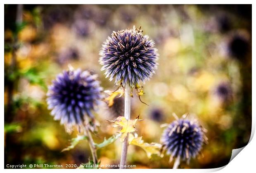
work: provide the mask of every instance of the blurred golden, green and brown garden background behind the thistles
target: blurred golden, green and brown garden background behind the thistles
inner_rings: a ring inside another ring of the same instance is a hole
[[[180,168],[216,168],[230,160],[251,133],[251,5],[5,5],[5,166],[81,164],[90,157],[86,141],[61,152],[67,134],[46,105],[47,86],[68,68],[90,69],[104,89],[114,82],[100,71],[99,51],[113,30],[142,26],[155,41],[159,67],[143,84],[141,103],[132,99],[137,133],[159,143],[161,124],[172,113],[196,116],[208,129],[209,144],[199,158]],[[134,94],[135,95],[135,94]],[[113,135],[106,119],[122,114],[122,98],[111,109],[100,105],[96,142]],[[102,164],[119,164],[119,141],[98,150]],[[91,157],[90,157],[91,158]],[[168,156],[130,146],[128,164],[172,168]]]

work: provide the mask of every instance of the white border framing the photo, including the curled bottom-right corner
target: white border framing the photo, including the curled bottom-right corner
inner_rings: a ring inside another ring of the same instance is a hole
[[[34,4],[35,1],[34,0],[3,0],[2,2],[4,2],[4,4]],[[138,2],[140,4],[206,4],[205,0],[179,0],[179,1],[167,1],[167,0],[158,0],[158,1],[153,1],[153,0],[129,0],[129,1],[120,1],[120,0],[109,0],[109,1],[103,1],[103,0],[94,0],[94,1],[84,1],[84,0],[72,0],[72,1],[67,1],[67,0],[62,0],[62,1],[53,1],[53,0],[37,0],[36,1],[38,4],[59,4],[59,2],[61,2],[62,4],[123,4],[123,3],[129,3],[129,4],[138,4]],[[178,3],[177,3],[178,2]],[[229,2],[225,2],[223,0],[208,0],[207,4],[230,4]],[[242,1],[243,4],[253,4],[252,0],[243,0]],[[2,42],[1,42],[1,50],[2,50],[2,62],[0,63],[0,73],[1,73],[1,79],[2,81],[4,80],[4,4],[2,4],[2,22],[1,22],[1,33],[2,33]],[[233,0],[232,4],[241,4],[241,1],[238,0]],[[252,19],[255,19],[255,6],[252,5]],[[255,21],[252,20],[252,28],[255,28]],[[255,35],[252,34],[252,47],[254,47],[254,43],[255,43]],[[252,57],[254,57],[255,51],[254,49],[252,49]],[[255,59],[252,59],[252,76],[255,76]],[[252,88],[255,89],[255,79],[252,79]],[[1,168],[4,168],[4,83],[2,82],[1,84],[1,95],[0,95],[0,109],[2,112],[2,129],[1,129]],[[255,98],[255,90],[252,91],[252,98]],[[253,99],[254,100],[254,99]],[[223,166],[221,168],[213,168],[213,169],[178,169],[178,170],[172,170],[172,169],[160,169],[160,171],[164,171],[164,172],[195,172],[195,173],[199,173],[199,172],[214,172],[214,171],[218,171],[221,170],[220,172],[222,173],[228,173],[228,172],[241,172],[241,171],[248,171],[248,172],[252,172],[252,170],[255,170],[255,156],[256,156],[256,140],[255,138],[253,139],[254,136],[254,131],[255,131],[255,108],[252,108],[252,133],[251,133],[251,138],[250,138],[250,143],[244,147],[244,150],[242,150],[242,152],[239,154],[239,157],[235,157],[227,166]],[[238,149],[239,150],[239,149]],[[235,150],[235,152],[237,152],[238,150]],[[240,150],[241,151],[241,150]],[[232,152],[233,154],[233,152]],[[224,168],[224,169],[223,169]],[[45,170],[47,170],[47,172],[70,172],[69,169],[37,169],[36,171],[38,172],[45,172]],[[85,170],[79,170],[79,169],[75,169],[72,171],[82,171],[84,172]],[[12,171],[20,171],[21,173],[27,173],[27,172],[31,172],[31,171],[35,171],[32,169],[19,169],[19,170],[13,170],[13,169],[5,169],[5,172],[12,172]],[[97,169],[97,170],[93,170],[93,169],[88,169],[87,171],[89,172],[117,172],[120,170],[116,170],[116,169]],[[129,169],[123,170],[124,172],[127,171],[131,171]],[[139,169],[133,169],[133,172],[141,172],[143,170],[139,170]],[[146,169],[145,171],[158,171],[155,169]]]

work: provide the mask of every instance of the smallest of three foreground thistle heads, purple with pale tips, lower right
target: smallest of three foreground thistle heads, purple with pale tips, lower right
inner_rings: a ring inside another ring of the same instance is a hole
[[[196,157],[207,142],[205,131],[196,119],[181,118],[169,124],[162,134],[161,142],[167,154],[171,155],[170,162],[175,157],[189,163],[191,157]]]

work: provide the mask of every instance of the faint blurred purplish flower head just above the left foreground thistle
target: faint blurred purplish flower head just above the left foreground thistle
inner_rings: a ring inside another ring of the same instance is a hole
[[[78,49],[69,47],[67,49],[63,49],[59,53],[59,55],[57,57],[57,61],[60,64],[65,64],[65,63],[68,63],[69,60],[78,60],[78,58],[79,58]]]

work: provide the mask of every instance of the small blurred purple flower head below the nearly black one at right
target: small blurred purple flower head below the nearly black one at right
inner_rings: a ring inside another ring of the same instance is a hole
[[[222,102],[227,102],[232,99],[232,89],[228,82],[221,82],[216,86],[215,92],[216,96]]]

